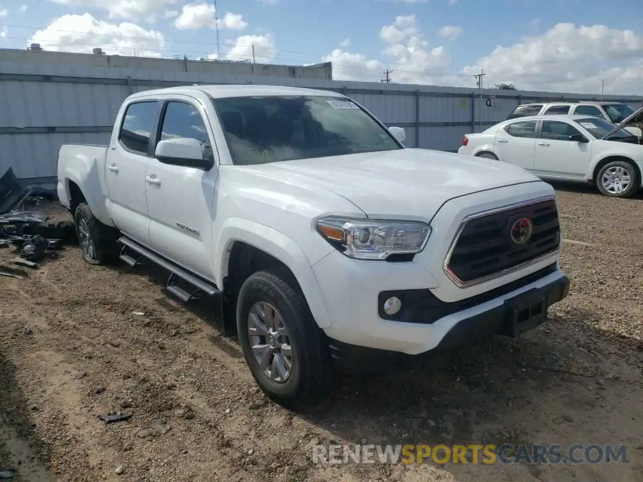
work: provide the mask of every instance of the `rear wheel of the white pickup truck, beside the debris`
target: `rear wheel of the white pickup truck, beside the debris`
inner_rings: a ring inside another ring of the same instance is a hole
[[[74,212],[76,235],[83,259],[91,265],[104,265],[116,259],[116,237],[109,226],[94,217],[86,202]]]

